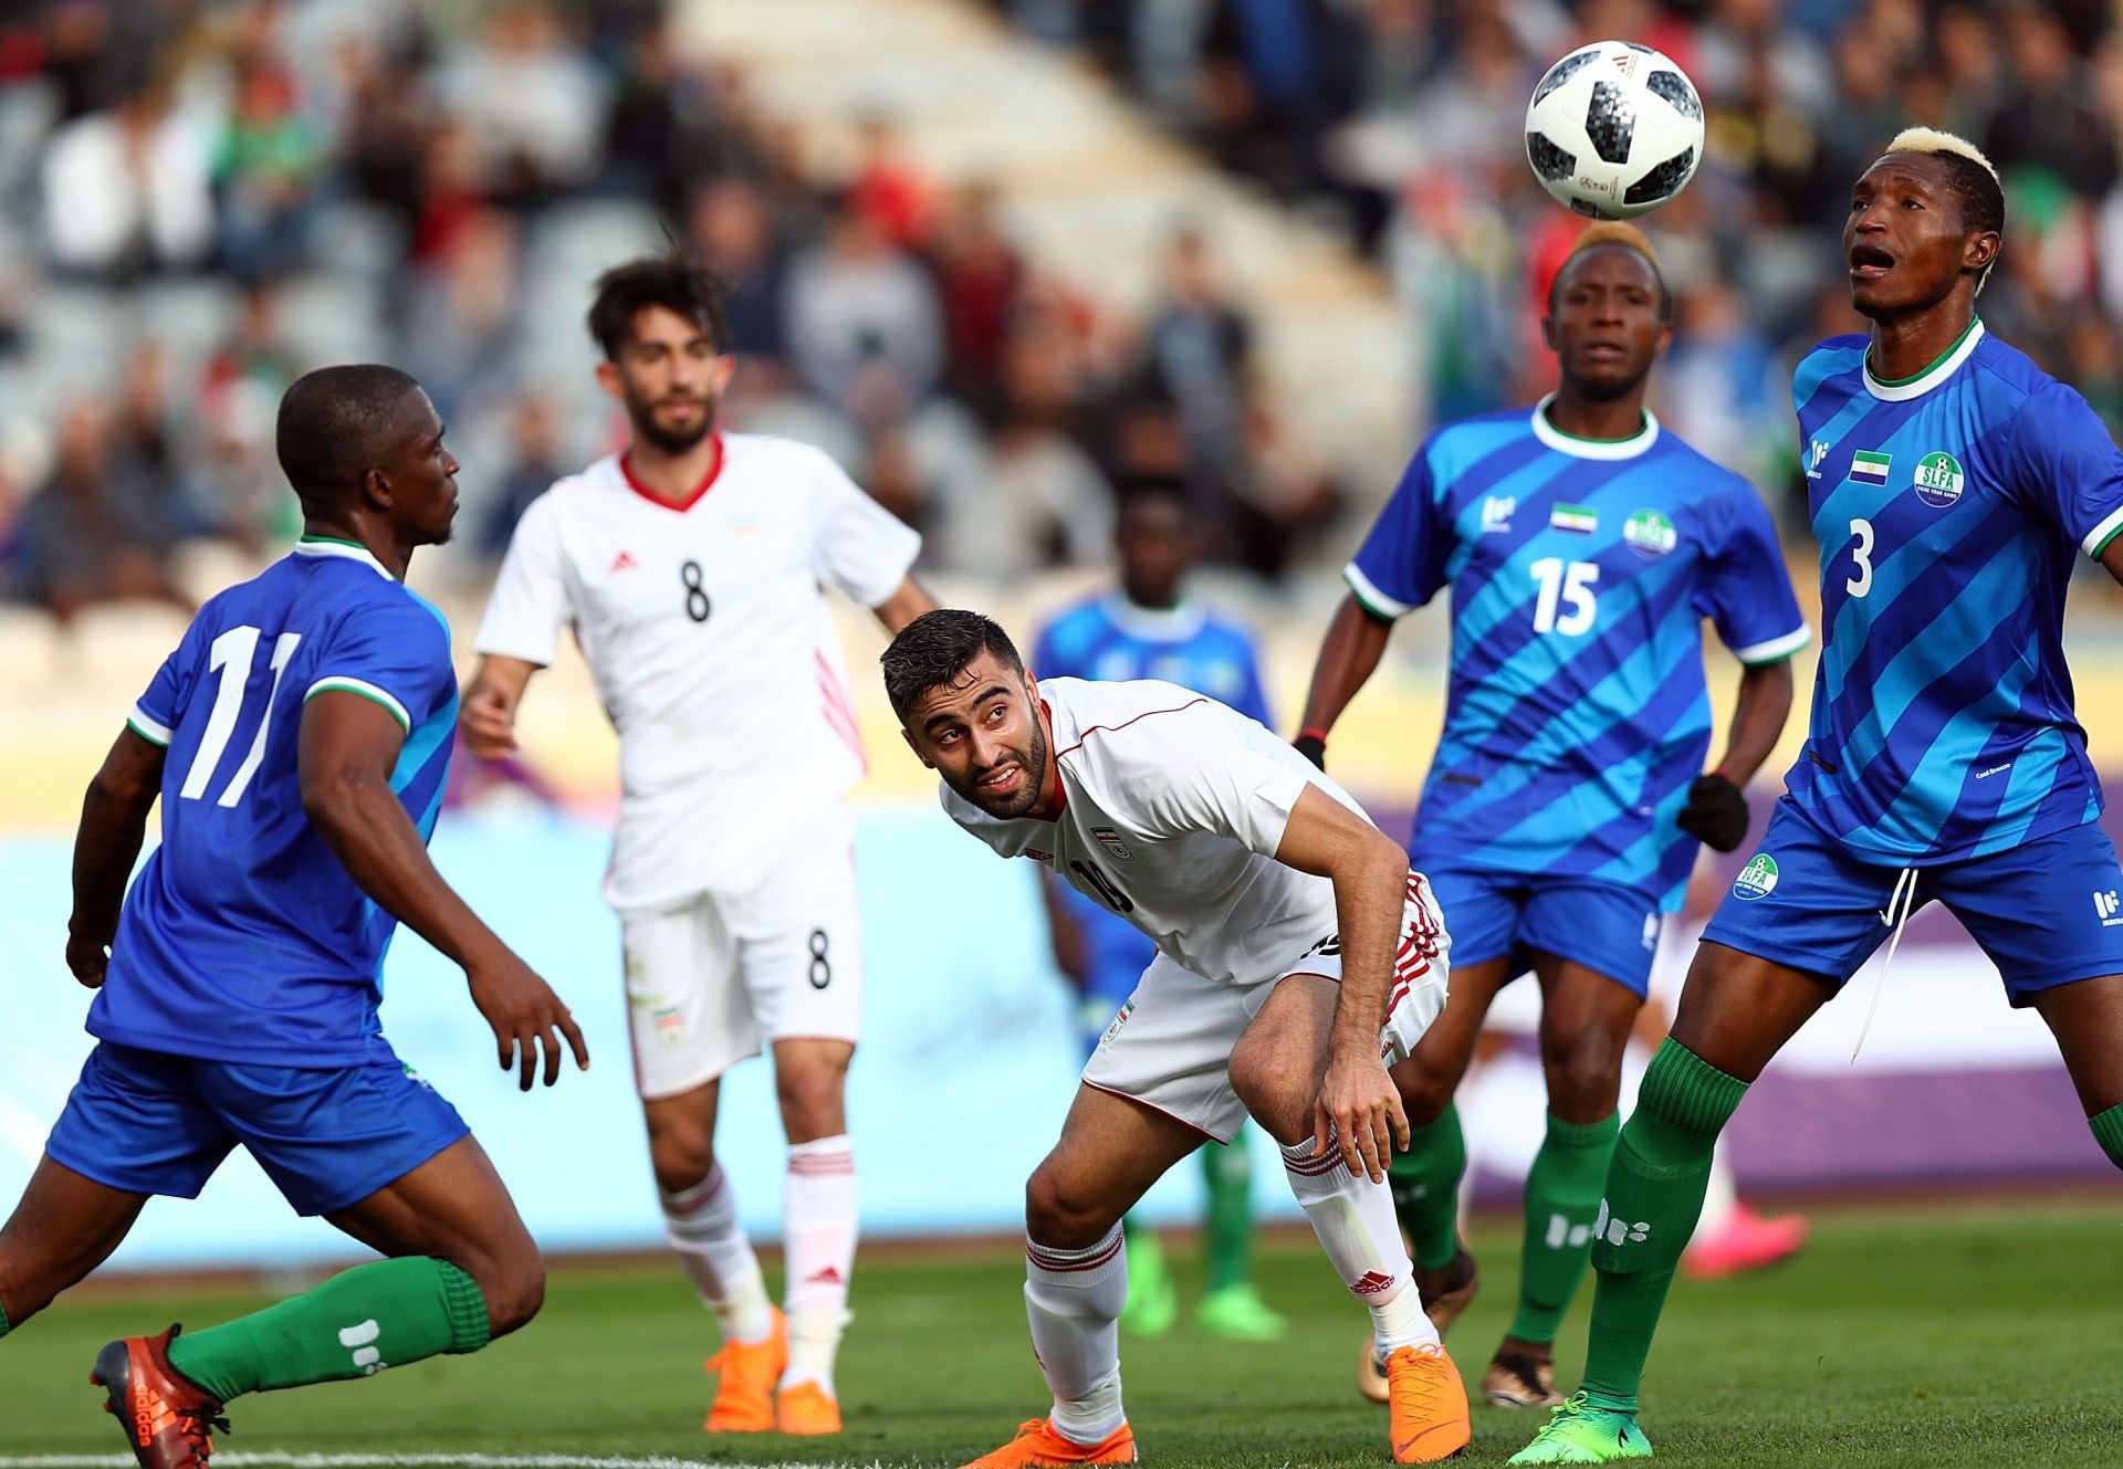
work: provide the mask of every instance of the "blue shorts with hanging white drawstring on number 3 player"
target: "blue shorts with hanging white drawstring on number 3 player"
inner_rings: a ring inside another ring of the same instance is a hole
[[[1839,989],[1887,940],[1881,917],[1900,868],[1860,862],[1800,815],[1792,798],[1703,930],[1720,943]],[[2004,974],[2006,998],[2074,979],[2123,974],[2123,868],[2093,822],[2021,847],[1917,870],[1915,909],[1936,900]]]

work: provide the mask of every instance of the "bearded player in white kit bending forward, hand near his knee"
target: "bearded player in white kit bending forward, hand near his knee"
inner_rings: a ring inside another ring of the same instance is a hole
[[[1354,800],[1242,713],[1157,679],[1034,684],[974,611],[885,650],[907,743],[953,822],[1157,940],[1025,1187],[1025,1310],[1053,1412],[968,1469],[1136,1458],[1121,1412],[1121,1214],[1250,1114],[1350,1293],[1371,1308],[1393,1456],[1467,1446],[1467,1390],[1416,1295],[1386,1159],[1386,1064],[1446,1002],[1429,885]]]

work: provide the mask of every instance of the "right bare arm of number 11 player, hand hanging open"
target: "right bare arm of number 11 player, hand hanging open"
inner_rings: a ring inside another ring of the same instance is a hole
[[[588,1070],[590,1051],[567,1006],[516,953],[442,881],[420,830],[391,790],[405,730],[374,698],[327,690],[304,705],[297,758],[301,809],[346,866],[348,877],[384,913],[465,970],[471,1002],[495,1027],[501,1070],[520,1068],[531,1089],[539,1051],[546,1085],[560,1078],[560,1038]]]

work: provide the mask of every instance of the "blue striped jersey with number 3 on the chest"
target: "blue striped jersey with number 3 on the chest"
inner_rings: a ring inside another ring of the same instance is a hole
[[[2087,401],[1972,323],[1881,382],[1830,338],[1792,399],[1822,543],[1822,667],[1798,811],[1866,862],[1981,858],[2100,815],[2064,667],[2072,558],[2123,533]]]

